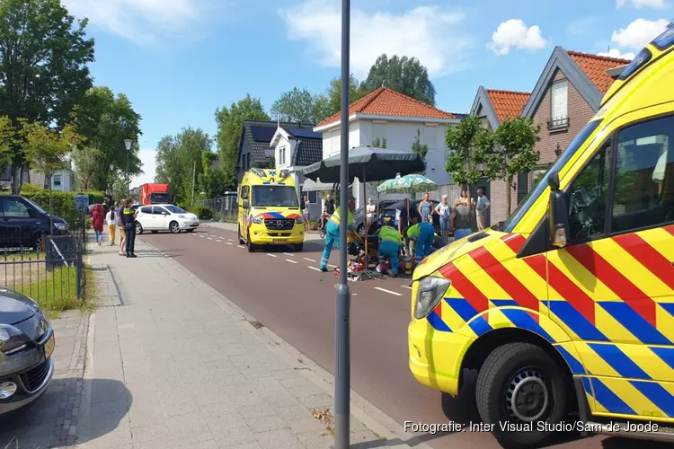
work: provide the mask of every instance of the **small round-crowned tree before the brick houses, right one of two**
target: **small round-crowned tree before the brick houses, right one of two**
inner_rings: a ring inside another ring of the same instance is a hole
[[[493,132],[493,145],[486,149],[486,176],[490,180],[505,180],[508,186],[508,214],[511,212],[510,189],[517,189],[513,180],[518,173],[531,172],[540,158],[540,152],[534,151],[540,130],[533,119],[506,120]]]

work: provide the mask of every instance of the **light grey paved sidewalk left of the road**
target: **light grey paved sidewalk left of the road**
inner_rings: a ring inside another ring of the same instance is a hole
[[[176,261],[136,247],[132,260],[93,247],[99,308],[77,447],[332,447],[331,429],[312,416],[333,411],[318,371]],[[352,447],[409,447],[395,424],[377,424],[386,417],[375,420],[376,409],[352,413]]]

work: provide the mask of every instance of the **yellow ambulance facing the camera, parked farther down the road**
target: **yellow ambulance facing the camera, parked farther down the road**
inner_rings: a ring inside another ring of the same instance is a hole
[[[305,225],[290,172],[253,168],[244,173],[238,191],[238,234],[249,252],[261,245],[292,245],[302,251]]]

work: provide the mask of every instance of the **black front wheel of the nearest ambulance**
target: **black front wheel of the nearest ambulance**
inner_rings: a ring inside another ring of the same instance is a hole
[[[484,361],[475,399],[480,418],[492,426],[503,447],[540,447],[552,433],[549,428],[567,412],[569,388],[562,368],[543,348],[509,343],[494,349]],[[502,429],[506,422],[518,427]],[[539,429],[543,423],[547,428]]]

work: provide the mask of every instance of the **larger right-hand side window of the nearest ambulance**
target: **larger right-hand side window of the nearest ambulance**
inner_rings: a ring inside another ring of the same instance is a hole
[[[674,222],[673,138],[673,116],[618,132],[613,233]]]

